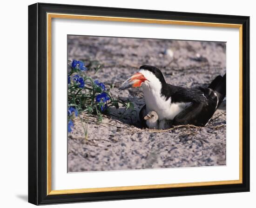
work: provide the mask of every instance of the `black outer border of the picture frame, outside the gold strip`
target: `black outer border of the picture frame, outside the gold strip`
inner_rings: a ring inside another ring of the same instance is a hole
[[[243,25],[243,183],[47,195],[47,13]],[[35,205],[249,191],[249,17],[36,3],[28,7],[28,202]]]

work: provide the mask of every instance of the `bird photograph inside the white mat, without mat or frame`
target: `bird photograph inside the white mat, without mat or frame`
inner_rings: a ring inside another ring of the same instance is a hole
[[[67,35],[67,172],[226,165],[226,42]]]

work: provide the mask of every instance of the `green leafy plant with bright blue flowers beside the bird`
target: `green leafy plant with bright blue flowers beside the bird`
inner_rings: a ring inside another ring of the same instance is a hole
[[[123,102],[111,95],[113,84],[107,89],[105,84],[87,75],[88,70],[95,70],[95,73],[100,70],[102,65],[98,62],[88,62],[88,65],[85,65],[82,61],[73,60],[69,66],[70,71],[67,76],[68,132],[74,128],[74,117],[81,113],[86,113],[88,116],[94,115],[97,117],[97,122],[101,122],[102,114],[107,114],[111,106],[118,109],[121,104],[125,107],[125,111],[134,110],[132,102]]]

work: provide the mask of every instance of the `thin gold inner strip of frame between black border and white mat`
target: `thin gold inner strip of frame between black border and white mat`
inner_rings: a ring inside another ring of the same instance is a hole
[[[100,21],[119,21],[119,22],[140,22],[140,23],[156,23],[156,24],[172,24],[186,26],[212,26],[212,27],[229,27],[239,28],[239,180],[214,181],[214,182],[189,182],[189,183],[172,183],[157,185],[141,185],[141,186],[122,186],[107,188],[88,188],[88,189],[66,189],[52,190],[52,171],[51,171],[51,23],[53,18],[61,19],[79,19],[79,20],[100,20]],[[122,18],[107,16],[91,16],[91,15],[74,15],[63,13],[47,13],[47,195],[60,194],[78,194],[93,193],[105,191],[123,191],[123,190],[142,190],[142,189],[163,189],[177,187],[192,186],[209,186],[209,185],[226,185],[243,183],[243,25],[225,24],[212,22],[195,22],[195,21],[179,21],[179,20],[157,20],[142,18]]]

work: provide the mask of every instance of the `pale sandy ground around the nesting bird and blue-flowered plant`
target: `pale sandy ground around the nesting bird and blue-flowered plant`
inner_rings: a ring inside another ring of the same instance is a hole
[[[135,104],[137,113],[119,118],[124,108],[111,109],[101,124],[88,120],[85,139],[80,119],[68,134],[68,171],[101,171],[212,166],[226,164],[226,110],[217,110],[206,127],[168,131],[141,129],[138,113],[144,105],[141,89],[117,91],[141,65],[161,69],[166,81],[184,87],[207,86],[226,71],[224,43],[158,39],[68,36],[68,59],[92,59],[104,64],[92,78],[109,87],[114,97]]]

